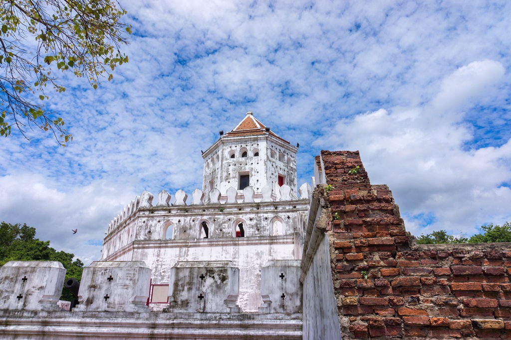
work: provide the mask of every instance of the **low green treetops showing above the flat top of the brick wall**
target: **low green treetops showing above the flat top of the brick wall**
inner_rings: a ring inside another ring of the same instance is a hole
[[[484,232],[470,238],[454,237],[445,230],[438,230],[427,235],[421,234],[415,240],[417,244],[511,242],[511,222],[505,222],[502,226],[482,225],[480,229]]]

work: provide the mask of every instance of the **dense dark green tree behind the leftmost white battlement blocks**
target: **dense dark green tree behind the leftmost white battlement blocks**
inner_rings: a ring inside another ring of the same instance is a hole
[[[35,228],[24,224],[0,224],[0,266],[9,261],[59,261],[66,269],[65,278],[82,278],[83,263],[72,253],[57,251],[50,247],[50,241],[35,238]],[[62,300],[71,301],[73,295],[62,291]]]

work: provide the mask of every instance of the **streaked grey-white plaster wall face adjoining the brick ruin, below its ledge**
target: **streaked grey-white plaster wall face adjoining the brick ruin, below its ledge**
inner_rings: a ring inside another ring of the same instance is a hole
[[[305,277],[303,302],[304,339],[341,338],[326,235],[323,236]]]

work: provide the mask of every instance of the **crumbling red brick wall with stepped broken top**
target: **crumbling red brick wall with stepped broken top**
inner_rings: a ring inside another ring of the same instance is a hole
[[[415,245],[358,151],[321,159],[344,339],[511,338],[510,244]]]

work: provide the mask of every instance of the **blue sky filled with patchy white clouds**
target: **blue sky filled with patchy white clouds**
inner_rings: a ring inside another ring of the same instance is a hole
[[[299,184],[321,149],[360,150],[415,235],[511,221],[511,2],[121,4],[129,63],[51,96],[69,147],[0,140],[1,220],[88,264],[143,190],[200,188],[200,150],[252,111],[300,143]]]

